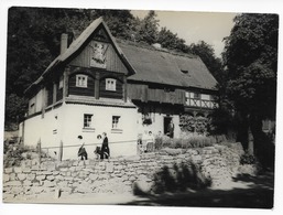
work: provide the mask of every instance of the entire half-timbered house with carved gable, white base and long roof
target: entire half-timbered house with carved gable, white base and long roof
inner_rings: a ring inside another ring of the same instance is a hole
[[[69,45],[62,34],[61,55],[25,92],[22,138],[43,148],[63,142],[67,159],[77,155],[68,148],[77,136],[91,154],[97,135],[107,132],[112,157],[135,154],[139,133],[166,133],[172,120],[177,137],[184,116],[207,117],[217,107],[215,86],[199,57],[117,42],[99,18]]]

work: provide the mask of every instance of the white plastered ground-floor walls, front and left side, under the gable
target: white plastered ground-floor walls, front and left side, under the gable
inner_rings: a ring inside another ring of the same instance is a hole
[[[84,129],[84,114],[94,115],[94,130]],[[121,132],[112,131],[112,116],[120,116]],[[108,106],[63,105],[56,109],[26,119],[24,122],[24,143],[42,148],[59,147],[63,142],[63,160],[77,159],[79,144],[77,137],[83,136],[88,158],[95,158],[97,136],[107,132],[111,157],[137,154],[137,108]],[[44,150],[47,151],[47,150]],[[48,154],[57,157],[59,149],[48,149]]]

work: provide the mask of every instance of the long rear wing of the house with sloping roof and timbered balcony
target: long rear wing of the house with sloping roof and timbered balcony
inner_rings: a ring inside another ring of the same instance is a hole
[[[181,131],[203,132],[198,119],[208,119],[218,106],[217,82],[203,61],[160,45],[121,42],[119,46],[135,72],[127,80],[128,96],[138,107],[138,132],[166,135],[171,120],[175,137]]]

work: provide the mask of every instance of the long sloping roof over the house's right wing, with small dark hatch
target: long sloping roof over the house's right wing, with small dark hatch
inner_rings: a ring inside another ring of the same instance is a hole
[[[216,79],[198,56],[139,46],[122,41],[118,45],[135,71],[134,75],[128,77],[130,80],[216,89]]]

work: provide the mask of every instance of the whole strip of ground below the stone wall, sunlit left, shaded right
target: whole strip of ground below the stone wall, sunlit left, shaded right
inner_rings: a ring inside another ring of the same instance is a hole
[[[258,176],[241,175],[235,178],[231,183],[222,184],[221,187],[206,189],[203,191],[186,191],[182,193],[165,193],[161,195],[144,194],[140,196],[134,196],[132,194],[63,194],[59,198],[54,198],[54,195],[47,194],[45,196],[35,196],[34,200],[22,200],[19,202],[272,208],[273,184],[273,173],[269,172]]]

